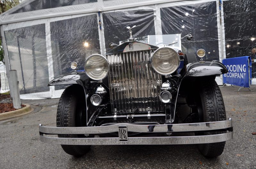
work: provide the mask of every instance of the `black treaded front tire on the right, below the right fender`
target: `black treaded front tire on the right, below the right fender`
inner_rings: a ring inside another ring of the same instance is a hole
[[[212,77],[200,81],[200,100],[203,122],[226,120],[226,111],[221,91]],[[200,104],[200,103],[199,103]],[[200,116],[200,115],[199,115]],[[201,121],[202,122],[202,121]],[[225,132],[204,132],[204,135],[222,134]],[[226,142],[198,144],[200,152],[209,158],[220,156]]]

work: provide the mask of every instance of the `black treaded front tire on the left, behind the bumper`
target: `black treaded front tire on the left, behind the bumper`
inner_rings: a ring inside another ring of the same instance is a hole
[[[76,90],[74,89],[74,86],[66,88],[60,97],[57,109],[57,127],[82,127],[81,123],[79,123],[79,121],[81,121],[79,118],[81,118],[81,111],[84,110],[83,107],[85,106],[85,102],[79,104],[79,94],[75,93]],[[58,135],[58,137],[77,138],[81,136],[74,134],[62,134]],[[66,153],[79,157],[88,152],[91,145],[61,145],[61,147]]]

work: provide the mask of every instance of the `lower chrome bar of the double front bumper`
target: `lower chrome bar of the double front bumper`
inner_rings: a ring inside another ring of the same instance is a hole
[[[183,137],[128,137],[128,141],[119,141],[119,137],[112,138],[58,138],[40,136],[44,143],[62,145],[153,145],[153,144],[202,144],[217,143],[233,138],[233,132],[206,136]]]

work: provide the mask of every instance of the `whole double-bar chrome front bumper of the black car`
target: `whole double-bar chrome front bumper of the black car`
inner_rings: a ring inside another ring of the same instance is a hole
[[[227,133],[204,136],[181,137],[129,137],[128,132],[138,133],[172,133],[172,132],[202,132],[227,130]],[[47,137],[47,134],[104,134],[118,132],[119,137],[104,138],[59,138]],[[233,138],[232,120],[209,123],[186,124],[113,124],[100,127],[45,127],[39,125],[40,140],[50,144],[67,145],[128,145],[128,144],[202,144],[217,143]],[[44,135],[45,134],[45,135]]]

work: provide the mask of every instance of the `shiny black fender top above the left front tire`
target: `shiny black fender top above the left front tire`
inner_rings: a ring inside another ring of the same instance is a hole
[[[84,72],[72,72],[61,75],[48,83],[48,86],[79,84],[83,86],[83,81],[89,79]]]

